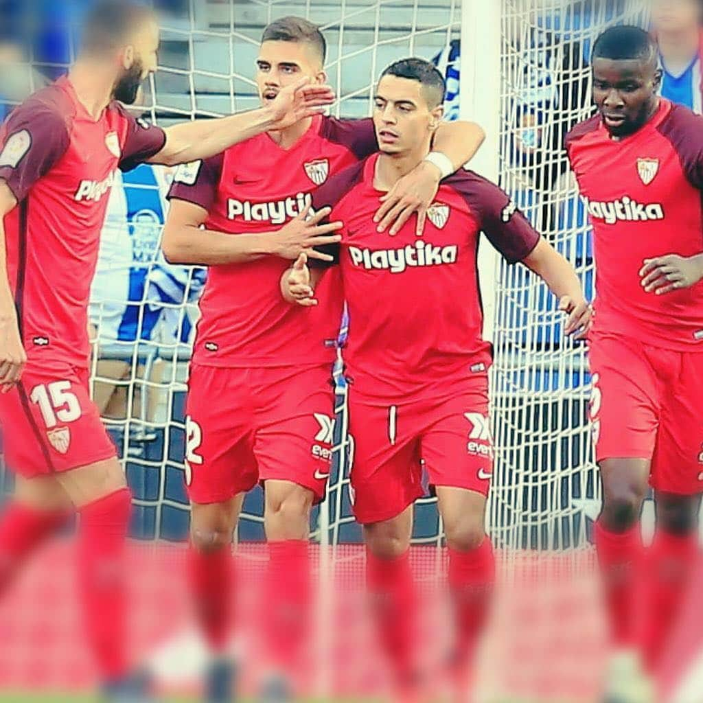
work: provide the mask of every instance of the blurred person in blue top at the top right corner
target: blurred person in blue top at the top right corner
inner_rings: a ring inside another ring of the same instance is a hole
[[[662,95],[674,103],[703,112],[701,0],[654,0],[652,31],[659,42],[664,71]]]

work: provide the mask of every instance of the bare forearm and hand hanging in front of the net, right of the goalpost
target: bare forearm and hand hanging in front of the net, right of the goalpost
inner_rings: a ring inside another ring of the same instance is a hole
[[[574,335],[575,340],[585,339],[591,328],[593,311],[583,296],[574,267],[543,239],[522,259],[522,263],[534,271],[559,299],[559,309],[569,316],[564,333]]]

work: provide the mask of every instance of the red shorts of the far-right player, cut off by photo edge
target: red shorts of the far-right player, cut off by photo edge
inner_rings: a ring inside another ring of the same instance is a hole
[[[651,459],[655,489],[703,492],[703,354],[597,334],[588,359],[596,460]]]

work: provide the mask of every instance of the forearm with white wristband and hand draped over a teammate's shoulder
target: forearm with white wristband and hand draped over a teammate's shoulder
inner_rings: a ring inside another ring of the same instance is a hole
[[[415,233],[421,235],[425,228],[427,208],[434,202],[439,181],[458,171],[470,161],[486,138],[486,133],[475,122],[442,122],[434,134],[433,156],[420,162],[407,176],[401,178],[381,198],[381,206],[373,220],[378,231],[390,226],[389,234],[397,234],[413,212],[418,213]],[[442,164],[440,168],[432,162]]]

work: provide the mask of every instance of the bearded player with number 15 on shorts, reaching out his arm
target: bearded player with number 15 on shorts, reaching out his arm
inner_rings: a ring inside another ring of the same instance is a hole
[[[17,489],[0,522],[0,588],[58,523],[80,515],[79,593],[108,696],[137,695],[128,673],[123,553],[130,494],[88,389],[87,307],[117,168],[175,165],[320,112],[325,86],[299,81],[259,110],[166,130],[130,103],[156,70],[153,11],[112,0],[89,15],[67,77],[0,129],[0,425]],[[120,699],[123,699],[120,698]]]

